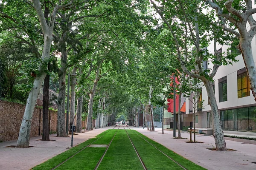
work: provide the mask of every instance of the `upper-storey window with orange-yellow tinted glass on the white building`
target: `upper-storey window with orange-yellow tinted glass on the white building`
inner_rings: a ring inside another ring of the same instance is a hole
[[[250,83],[247,72],[237,75],[237,97],[250,96]]]

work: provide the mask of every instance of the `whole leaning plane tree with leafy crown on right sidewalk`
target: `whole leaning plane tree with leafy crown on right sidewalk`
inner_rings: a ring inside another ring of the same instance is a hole
[[[206,87],[212,109],[216,149],[227,150],[221,129],[218,106],[212,88],[212,78],[220,65],[228,64],[234,59],[233,55],[225,54],[225,57],[223,57],[224,54],[218,53],[217,43],[230,45],[227,40],[232,42],[233,37],[222,31],[218,25],[218,20],[215,20],[212,13],[205,14],[203,12],[204,4],[195,1],[185,3],[182,0],[160,2],[161,7],[157,7],[151,0],[153,8],[163,21],[162,24],[170,31],[169,41],[173,42],[172,45],[175,45],[176,51],[174,55],[180,61],[181,68],[190,77],[201,79]],[[184,34],[186,30],[189,30],[188,34]],[[185,37],[189,40],[187,44],[183,43]],[[209,53],[207,50],[210,41],[214,41],[214,54]],[[185,54],[188,54],[188,61],[185,60]],[[212,60],[213,64],[211,70],[203,67],[203,61],[208,61],[209,59]]]

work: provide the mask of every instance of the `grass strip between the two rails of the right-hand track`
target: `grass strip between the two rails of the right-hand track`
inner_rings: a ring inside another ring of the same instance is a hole
[[[135,130],[127,130],[134,146],[148,170],[183,170],[174,161],[160,153],[151,144],[140,138]]]

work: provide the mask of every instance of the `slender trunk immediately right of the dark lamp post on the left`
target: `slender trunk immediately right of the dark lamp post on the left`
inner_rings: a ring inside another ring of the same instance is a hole
[[[76,104],[76,102],[75,102],[76,101],[75,100],[76,99],[76,91],[75,91],[75,88],[76,88],[76,77],[75,77],[76,70],[77,70],[77,68],[74,67],[73,71],[72,71],[72,75],[71,75],[71,85],[70,85],[70,88],[71,88],[70,122],[72,122],[73,124],[75,123],[74,118],[75,118],[75,104]],[[71,134],[71,131],[70,131],[70,134]]]

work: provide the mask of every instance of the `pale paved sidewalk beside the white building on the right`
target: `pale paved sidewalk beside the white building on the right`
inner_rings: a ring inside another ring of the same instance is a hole
[[[173,131],[164,130],[167,134],[161,134],[160,128],[155,132],[142,127],[130,128],[208,170],[256,170],[256,164],[251,163],[256,162],[256,144],[225,140],[227,148],[237,151],[212,151],[206,149],[215,147],[214,138],[210,136],[196,136],[196,141],[204,143],[186,143],[189,133],[181,133],[181,137],[188,139],[173,139]]]

